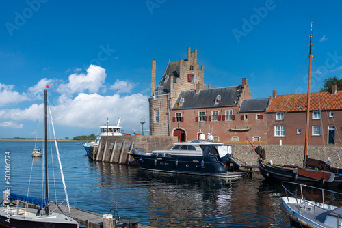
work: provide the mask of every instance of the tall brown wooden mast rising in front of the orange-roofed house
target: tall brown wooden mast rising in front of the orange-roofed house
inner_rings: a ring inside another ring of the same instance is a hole
[[[306,104],[306,134],[305,134],[305,145],[304,145],[304,161],[303,167],[306,168],[306,157],[308,156],[308,125],[310,119],[310,84],[311,84],[311,59],[313,55],[311,54],[311,48],[313,46],[312,42],[313,38],[313,23],[311,23],[311,31],[310,31],[310,51],[308,54],[308,101]]]

